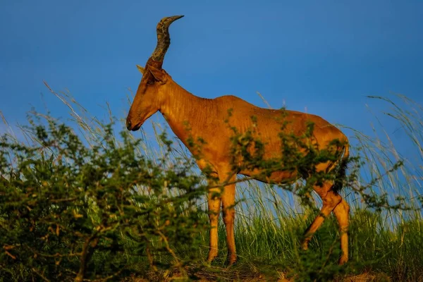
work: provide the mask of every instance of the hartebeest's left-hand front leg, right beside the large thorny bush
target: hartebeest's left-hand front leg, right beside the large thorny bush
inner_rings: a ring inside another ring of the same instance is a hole
[[[214,185],[212,183],[212,185]],[[212,262],[217,256],[218,248],[218,235],[217,226],[219,221],[220,205],[221,205],[221,188],[210,188],[208,194],[209,202],[209,221],[210,221],[210,244],[209,255],[207,262]]]

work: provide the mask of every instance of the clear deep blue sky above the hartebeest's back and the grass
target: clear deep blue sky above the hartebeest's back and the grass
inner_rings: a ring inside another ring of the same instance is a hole
[[[99,118],[105,102],[125,118],[135,64],[152,54],[157,22],[173,15],[185,18],[171,26],[164,68],[200,97],[266,107],[258,91],[274,108],[364,131],[365,104],[384,110],[366,95],[423,104],[423,1],[1,0],[0,111],[23,123],[31,105],[43,110],[42,93],[51,114],[66,117],[46,80]]]

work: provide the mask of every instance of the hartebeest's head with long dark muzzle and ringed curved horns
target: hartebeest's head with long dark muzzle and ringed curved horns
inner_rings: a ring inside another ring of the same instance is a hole
[[[154,49],[152,56],[145,64],[145,68],[137,66],[142,73],[142,79],[138,86],[137,93],[133,104],[130,106],[128,117],[126,118],[126,128],[128,130],[140,129],[142,123],[147,118],[160,110],[161,104],[168,92],[168,84],[171,76],[164,71],[163,65],[164,55],[171,44],[171,37],[168,28],[175,20],[183,16],[173,16],[162,18],[157,24],[157,47]]]

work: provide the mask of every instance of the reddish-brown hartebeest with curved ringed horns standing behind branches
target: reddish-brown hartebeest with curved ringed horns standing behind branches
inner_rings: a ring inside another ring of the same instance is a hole
[[[161,66],[171,42],[168,27],[174,20],[182,17],[163,18],[158,23],[157,47],[148,59],[145,68],[137,66],[143,75],[133,104],[130,107],[126,126],[128,130],[138,130],[149,116],[160,111],[173,133],[190,149],[192,154],[196,155],[200,169],[205,171],[207,168],[207,173],[211,176],[209,179],[219,179],[218,183],[214,183],[211,187],[221,184],[224,186],[221,193],[216,194],[217,188],[213,188],[208,195],[211,225],[208,261],[211,262],[217,255],[217,226],[220,208],[222,207],[228,243],[228,263],[233,264],[236,261],[233,230],[235,177],[236,174],[243,174],[255,178],[255,173],[247,169],[232,171],[230,137],[233,135],[233,131],[225,122],[228,118],[228,110],[231,109],[231,125],[238,128],[241,132],[246,128],[252,127],[253,121],[250,117],[255,116],[255,130],[265,141],[264,158],[281,154],[281,140],[278,136],[281,131],[281,111],[262,109],[234,96],[222,96],[215,99],[200,98],[173,81],[171,76]],[[345,176],[346,160],[348,159],[348,139],[341,130],[338,130],[338,128],[319,116],[298,111],[284,111],[283,121],[288,121],[290,124],[286,130],[290,130],[290,133],[298,136],[305,133],[307,123],[314,123],[313,137],[318,148],[329,146],[332,140],[340,140],[343,145],[336,148],[336,152],[340,155],[339,159],[317,164],[315,170],[331,171],[333,168],[341,166],[341,169],[339,169],[341,171],[339,173],[340,177]],[[189,132],[186,130],[187,124],[190,128]],[[193,140],[197,140],[198,137],[204,140],[201,154],[198,154],[196,149],[191,147],[190,137]],[[259,180],[281,183],[286,180],[297,180],[300,177],[300,173],[293,171],[276,171],[271,173],[270,178],[259,178]],[[313,189],[321,197],[323,206],[320,214],[307,228],[302,248],[307,249],[313,233],[321,226],[326,216],[333,212],[340,227],[342,255],[339,263],[343,264],[348,261],[348,214],[350,208],[347,202],[338,194],[338,190],[334,189],[333,181],[324,180],[323,183],[314,185]]]

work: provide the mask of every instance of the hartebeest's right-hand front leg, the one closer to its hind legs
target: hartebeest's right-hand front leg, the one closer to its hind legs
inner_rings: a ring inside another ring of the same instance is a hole
[[[229,183],[235,182],[236,177],[233,176]],[[228,244],[228,265],[231,266],[236,262],[235,250],[235,231],[233,222],[235,221],[235,184],[225,186],[222,193],[222,211],[223,223],[226,227],[226,243]]]

